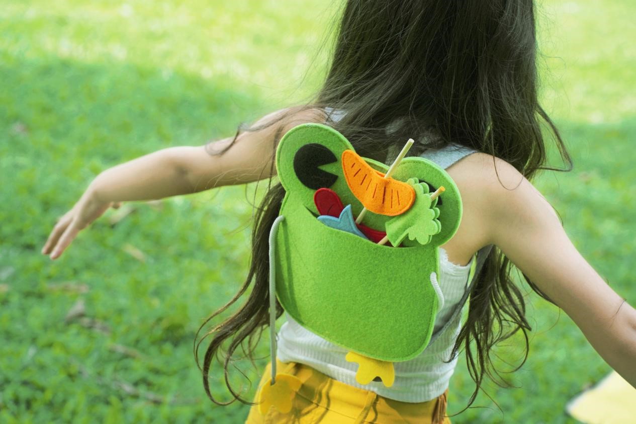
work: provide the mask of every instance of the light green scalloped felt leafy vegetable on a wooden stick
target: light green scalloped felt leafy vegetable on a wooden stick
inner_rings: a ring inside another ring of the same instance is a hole
[[[415,202],[408,211],[387,221],[387,237],[394,246],[399,246],[403,241],[405,245],[410,246],[428,244],[431,237],[441,231],[441,225],[437,220],[439,209],[435,208],[437,199],[431,200],[426,183],[419,183],[415,178],[406,183],[413,187]]]

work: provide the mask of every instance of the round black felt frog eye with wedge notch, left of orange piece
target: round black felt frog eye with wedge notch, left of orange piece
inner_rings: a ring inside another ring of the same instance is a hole
[[[331,164],[338,159],[328,148],[318,143],[301,146],[294,155],[294,173],[303,185],[312,190],[331,187],[338,176],[328,173],[319,166]]]

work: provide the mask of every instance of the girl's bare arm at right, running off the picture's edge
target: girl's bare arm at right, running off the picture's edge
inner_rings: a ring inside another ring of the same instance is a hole
[[[508,189],[501,187],[488,158],[481,164],[489,167],[490,178],[481,187],[480,209],[487,216],[490,243],[561,307],[607,364],[636,387],[635,309],[581,257],[536,188],[514,167],[497,160],[497,173]]]

